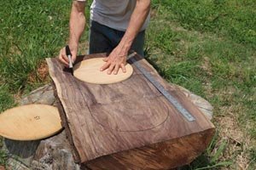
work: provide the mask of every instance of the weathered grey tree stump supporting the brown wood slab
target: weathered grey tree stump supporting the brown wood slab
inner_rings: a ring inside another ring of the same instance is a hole
[[[212,105],[200,96],[192,94],[189,90],[175,85],[175,88],[183,91],[191,101],[209,118],[212,118]],[[48,84],[38,88],[24,99],[20,100],[20,105],[39,103],[46,105],[56,105],[54,89]],[[7,169],[86,169],[80,167],[73,159],[73,147],[67,140],[65,131],[56,134],[48,139],[37,141],[15,141],[4,139],[4,150],[8,152]]]

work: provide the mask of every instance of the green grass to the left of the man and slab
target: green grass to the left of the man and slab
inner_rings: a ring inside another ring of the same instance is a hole
[[[0,6],[0,72],[4,86],[15,94],[42,83],[37,75],[29,81],[29,75],[65,44],[70,3],[16,0]]]

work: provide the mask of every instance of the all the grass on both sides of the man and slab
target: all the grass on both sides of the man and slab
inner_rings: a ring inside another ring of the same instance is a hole
[[[40,67],[67,42],[70,7],[64,0],[0,2],[0,112],[47,82]],[[256,168],[255,8],[253,0],[152,1],[148,61],[214,106],[218,133],[185,169]],[[5,157],[0,151],[0,164]]]

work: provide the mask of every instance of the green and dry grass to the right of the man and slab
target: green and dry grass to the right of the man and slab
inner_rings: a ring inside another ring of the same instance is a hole
[[[207,150],[188,169],[237,169],[236,156],[242,152],[250,153],[248,169],[255,168],[254,7],[253,1],[154,1],[147,59],[167,81],[210,101],[216,124],[222,117],[235,117],[245,136],[241,144],[247,145],[229,155],[224,148],[233,144],[213,144],[215,150]],[[224,141],[221,135],[215,140]]]

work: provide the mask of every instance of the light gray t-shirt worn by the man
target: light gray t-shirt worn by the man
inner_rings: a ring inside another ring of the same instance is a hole
[[[90,6],[90,20],[115,30],[126,31],[136,2],[137,0],[94,0]],[[149,14],[141,31],[146,29],[148,22]]]

